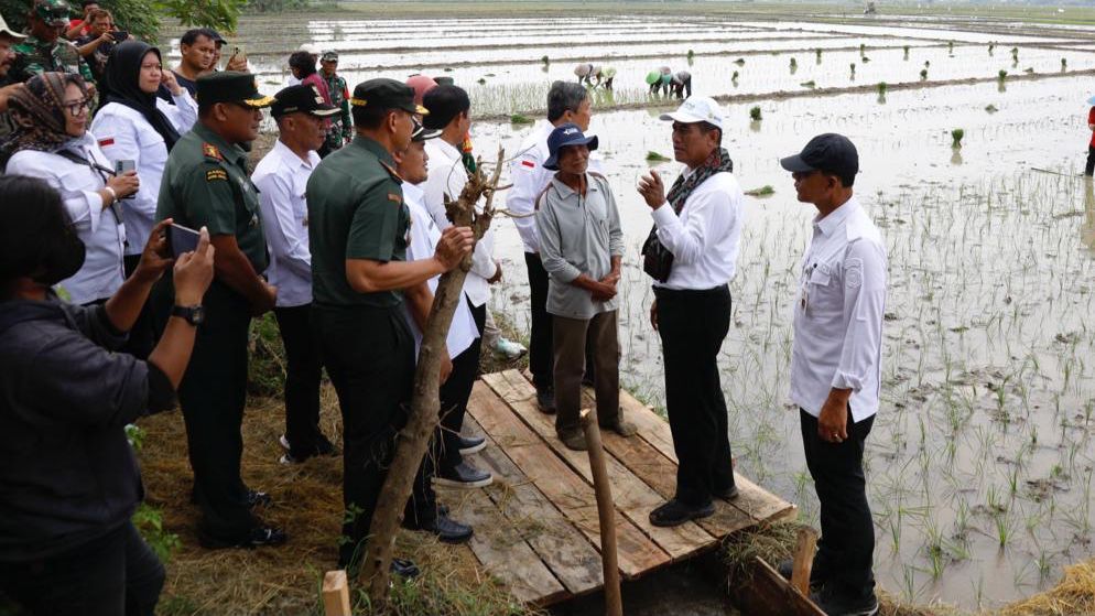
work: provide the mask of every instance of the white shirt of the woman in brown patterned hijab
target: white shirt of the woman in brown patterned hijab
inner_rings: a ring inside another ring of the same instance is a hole
[[[107,170],[112,169],[90,132],[85,132],[67,149]],[[75,275],[58,284],[68,293],[71,301],[86,304],[113,295],[126,279],[122,266],[126,226],[120,218],[120,203],[116,204],[117,207],[102,207],[99,191],[106,186],[104,175],[59,154],[34,150],[15,152],[8,161],[4,173],[41,177],[61,193],[65,209],[76,226],[76,235],[86,248],[84,266]]]

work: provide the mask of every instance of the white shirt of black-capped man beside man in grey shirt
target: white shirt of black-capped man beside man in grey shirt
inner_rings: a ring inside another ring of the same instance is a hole
[[[430,212],[433,221],[444,230],[453,226],[445,212],[445,195],[448,195],[451,201],[459,198],[460,191],[468,183],[468,175],[460,151],[444,139],[426,141],[426,155],[430,159],[430,176],[419,185],[419,188],[423,193],[426,210]],[[476,209],[481,212],[483,205],[476,204]],[[490,299],[490,285],[487,280],[494,278],[497,269],[495,231],[487,229],[475,245],[475,251],[471,252],[471,270],[464,279],[464,292],[467,293],[473,306],[479,307]]]

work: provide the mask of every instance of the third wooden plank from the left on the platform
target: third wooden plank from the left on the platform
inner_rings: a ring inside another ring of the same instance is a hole
[[[485,375],[483,380],[513,409],[533,431],[540,434],[556,455],[566,461],[593,485],[593,472],[585,452],[567,449],[555,435],[555,420],[541,412],[535,403],[535,388],[517,370]],[[716,539],[693,522],[676,527],[657,527],[650,523],[650,511],[664,502],[664,498],[635,476],[624,464],[612,456],[606,456],[611,490],[616,507],[626,518],[641,528],[673,560],[687,558],[696,552],[713,548]]]

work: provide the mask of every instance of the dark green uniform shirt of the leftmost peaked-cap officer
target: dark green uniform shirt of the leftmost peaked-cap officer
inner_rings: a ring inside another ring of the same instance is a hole
[[[259,190],[247,174],[247,153],[200,121],[183,134],[163,169],[156,220],[174,218],[210,236],[236,236],[254,271],[267,269]]]

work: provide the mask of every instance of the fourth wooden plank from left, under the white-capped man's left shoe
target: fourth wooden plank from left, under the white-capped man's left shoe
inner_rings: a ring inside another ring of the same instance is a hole
[[[587,390],[583,395],[589,403],[595,403],[592,390]],[[631,420],[631,412],[625,411],[626,419]],[[605,432],[601,434],[601,441],[609,453],[662,498],[673,498],[676,494],[676,464],[674,462],[643,439],[633,436],[625,439],[619,434]],[[731,532],[755,526],[757,521],[737,507],[716,498],[715,515],[696,520],[696,523],[715,538],[722,539]]]

